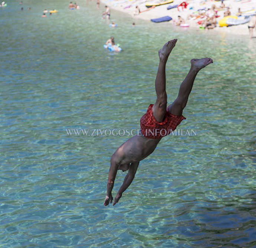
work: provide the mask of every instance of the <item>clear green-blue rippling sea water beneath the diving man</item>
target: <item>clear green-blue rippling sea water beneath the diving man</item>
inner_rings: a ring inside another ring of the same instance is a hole
[[[0,247],[256,247],[256,39],[114,10],[110,28],[95,1],[73,11],[61,0],[19,2],[0,8]],[[58,13],[41,18],[44,9]],[[103,48],[111,35],[122,52]],[[169,103],[191,58],[214,61],[178,126],[197,135],[163,138],[104,207],[110,157],[128,137],[92,129],[140,128],[155,101],[157,51],[173,38]]]

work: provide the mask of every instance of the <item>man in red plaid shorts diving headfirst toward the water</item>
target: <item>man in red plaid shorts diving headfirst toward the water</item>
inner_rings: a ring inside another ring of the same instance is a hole
[[[154,152],[161,138],[168,135],[170,130],[174,130],[180,122],[185,119],[182,115],[182,111],[187,104],[194,79],[200,69],[213,63],[211,58],[193,58],[190,61],[190,71],[180,85],[177,98],[167,107],[165,65],[176,42],[177,39],[170,40],[158,51],[160,62],[157,77],[155,78],[157,100],[154,105],[150,104],[145,115],[141,117],[140,124],[142,135],[136,135],[128,139],[124,144],[118,147],[111,157],[106,197],[104,200],[105,206],[107,206],[109,202],[112,203],[112,189],[114,187],[117,170],[129,171],[116,194],[113,205],[118,203],[119,199],[122,197],[122,193],[131,184],[140,161]]]

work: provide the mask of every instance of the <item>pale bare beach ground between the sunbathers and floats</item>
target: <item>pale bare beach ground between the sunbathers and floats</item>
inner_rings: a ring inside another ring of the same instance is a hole
[[[177,17],[181,16],[182,18],[184,18],[186,23],[190,25],[191,28],[199,28],[200,25],[197,23],[197,21],[200,20],[200,18],[196,20],[191,20],[190,18],[187,20],[187,17],[189,16],[189,14],[194,13],[198,9],[203,9],[203,8],[210,9],[213,4],[215,4],[216,7],[220,7],[220,4],[221,4],[221,1],[189,0],[187,1],[187,3],[189,3],[187,9],[184,9],[183,11],[182,10],[178,11],[177,8],[167,10],[168,6],[180,4],[182,2],[182,0],[174,0],[173,3],[164,4],[162,6],[157,6],[153,9],[147,10],[147,7],[145,6],[146,1],[144,2],[142,1],[144,0],[105,0],[105,1],[102,1],[102,5],[104,4],[109,6],[110,9],[115,9],[118,11],[125,12],[131,15],[132,18],[134,19],[151,20],[153,18],[170,16],[174,20],[177,20]],[[152,0],[150,2],[156,2],[156,1],[157,0],[155,1]],[[225,4],[226,7],[229,6],[231,15],[236,15],[238,8],[240,8],[241,11],[246,11],[242,13],[243,15],[247,15],[247,14],[250,15],[256,12],[256,0],[250,0],[250,1],[249,0],[241,0],[241,1],[224,0],[223,3]],[[128,7],[128,6],[131,6],[131,7]],[[138,6],[140,11],[143,11],[143,12],[134,16],[133,13],[135,11],[136,6]],[[144,10],[147,10],[147,11],[144,11]],[[248,11],[248,10],[252,10],[252,11]],[[226,11],[226,9],[218,11],[217,15],[219,15],[220,17],[217,18],[217,22],[219,22],[219,20],[224,17],[224,11]],[[170,25],[174,24],[173,21],[169,21],[169,23]],[[156,25],[157,24],[158,23],[156,23]],[[178,28],[182,28],[182,27],[178,27]],[[247,35],[249,37],[248,23],[229,26],[229,27],[220,27],[219,24],[217,24],[217,27],[215,27],[214,30],[226,32],[226,33],[232,33],[232,34]],[[256,31],[254,31],[254,36],[255,35],[256,35]]]

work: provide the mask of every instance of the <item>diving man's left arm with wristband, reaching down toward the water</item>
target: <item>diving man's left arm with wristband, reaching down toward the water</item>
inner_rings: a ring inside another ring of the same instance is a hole
[[[108,173],[108,183],[107,183],[107,193],[106,198],[104,201],[104,206],[107,206],[110,203],[112,203],[113,197],[112,197],[112,189],[114,187],[114,181],[116,177],[116,173],[118,170],[118,164],[116,163],[115,157],[112,156],[110,160],[110,168]]]

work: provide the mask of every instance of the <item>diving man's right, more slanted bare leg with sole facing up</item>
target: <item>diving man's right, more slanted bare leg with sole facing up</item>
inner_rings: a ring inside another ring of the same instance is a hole
[[[186,78],[180,85],[178,97],[175,99],[175,101],[171,105],[168,106],[169,112],[172,113],[173,115],[182,115],[182,111],[186,107],[188,96],[191,92],[191,89],[198,71],[206,67],[206,65],[213,63],[213,60],[211,58],[201,58],[201,59],[193,58],[190,62],[191,62],[190,71],[188,72]]]

